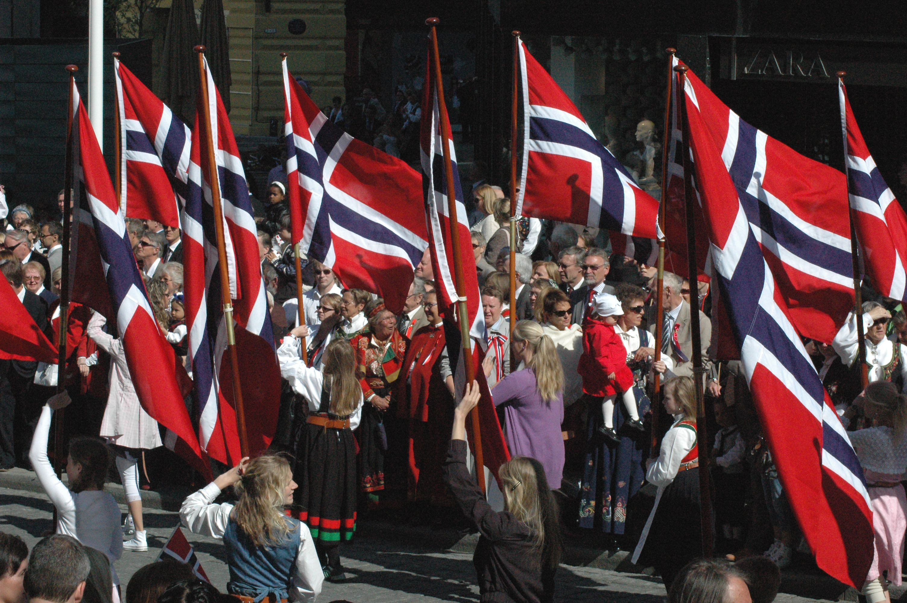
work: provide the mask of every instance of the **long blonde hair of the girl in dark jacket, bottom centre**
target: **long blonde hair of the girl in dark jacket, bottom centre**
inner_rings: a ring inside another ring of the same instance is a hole
[[[498,474],[504,485],[504,509],[532,530],[532,547],[541,557],[542,568],[557,568],[562,544],[558,503],[541,462],[514,456]]]

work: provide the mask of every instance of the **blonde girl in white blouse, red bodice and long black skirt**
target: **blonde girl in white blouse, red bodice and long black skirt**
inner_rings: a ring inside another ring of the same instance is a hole
[[[668,379],[662,402],[665,410],[674,416],[674,423],[661,440],[658,459],[646,462],[646,481],[658,486],[658,493],[632,561],[636,563],[645,548],[658,575],[670,588],[678,571],[702,556],[693,377]]]

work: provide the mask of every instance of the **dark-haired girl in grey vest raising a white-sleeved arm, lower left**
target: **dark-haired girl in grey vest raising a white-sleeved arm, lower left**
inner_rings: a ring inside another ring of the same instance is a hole
[[[47,458],[47,435],[53,411],[64,408],[72,401],[65,390],[47,401],[34,428],[28,459],[32,462],[47,497],[56,507],[56,533],[72,536],[86,547],[107,555],[111,562],[113,594],[116,596],[120,579],[113,563],[122,557],[122,531],[120,507],[111,493],[104,491],[111,463],[110,450],[100,440],[93,438],[70,440],[66,476],[71,489],[60,481]],[[119,597],[115,597],[114,603],[119,603]]]

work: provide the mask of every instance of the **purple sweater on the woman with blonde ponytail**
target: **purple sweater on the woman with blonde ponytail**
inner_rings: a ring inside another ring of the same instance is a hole
[[[512,456],[541,462],[551,490],[561,487],[564,469],[563,393],[546,403],[536,389],[531,368],[508,374],[492,390],[495,406],[504,404],[507,446]]]

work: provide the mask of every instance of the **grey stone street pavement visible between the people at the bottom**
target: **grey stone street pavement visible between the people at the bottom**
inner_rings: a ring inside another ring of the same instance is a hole
[[[114,489],[115,485],[111,484],[109,488]],[[120,507],[125,513],[125,505],[121,503]],[[52,530],[52,513],[53,506],[43,493],[0,487],[0,531],[19,535],[29,547]],[[179,523],[175,511],[161,509],[146,509],[144,519],[149,550],[141,553],[123,551],[122,559],[116,563],[123,587],[136,569],[157,559]],[[380,526],[366,524],[363,528],[355,542],[341,549],[351,579],[343,584],[325,582],[319,601],[433,603],[478,600],[472,553],[431,547],[427,541],[405,533],[387,534]],[[223,545],[219,540],[183,531],[195,547],[211,582],[224,590],[228,570]],[[463,548],[463,545],[454,548]],[[610,569],[562,565],[557,581],[556,601],[661,603],[666,595],[658,579]],[[800,591],[809,589],[803,584],[798,588]],[[822,590],[824,588],[817,588],[816,592]],[[782,594],[775,600],[779,603],[814,603],[828,599]]]

